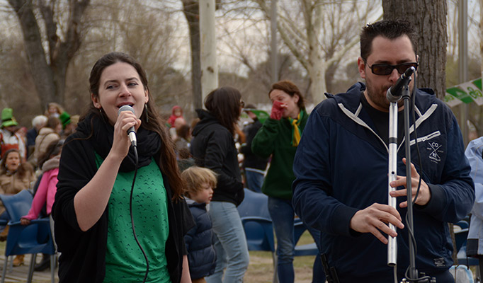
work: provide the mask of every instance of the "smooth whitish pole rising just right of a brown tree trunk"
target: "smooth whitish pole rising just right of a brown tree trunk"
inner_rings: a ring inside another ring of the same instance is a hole
[[[200,0],[201,96],[218,87],[216,60],[215,0]]]

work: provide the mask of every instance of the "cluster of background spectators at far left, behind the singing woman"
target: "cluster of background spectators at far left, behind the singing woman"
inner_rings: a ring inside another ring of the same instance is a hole
[[[57,190],[57,171],[62,143],[75,131],[79,115],[69,115],[57,103],[49,103],[45,115],[37,115],[32,127],[27,129],[18,124],[12,108],[1,111],[0,127],[0,194],[15,195],[21,190],[35,193],[32,209],[23,225],[30,220],[50,216]],[[38,193],[37,193],[38,192]],[[3,204],[0,204],[0,218],[8,220]],[[53,231],[53,224],[51,225]],[[0,241],[6,241],[8,226],[0,233]],[[23,255],[16,255],[13,266],[23,265]],[[50,256],[45,255],[35,270],[50,266]]]

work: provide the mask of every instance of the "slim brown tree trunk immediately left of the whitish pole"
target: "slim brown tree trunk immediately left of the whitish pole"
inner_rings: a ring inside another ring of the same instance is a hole
[[[182,2],[183,13],[190,30],[193,107],[194,109],[198,109],[203,107],[203,101],[201,101],[200,12],[198,1],[182,0]],[[194,109],[192,109],[192,111]]]

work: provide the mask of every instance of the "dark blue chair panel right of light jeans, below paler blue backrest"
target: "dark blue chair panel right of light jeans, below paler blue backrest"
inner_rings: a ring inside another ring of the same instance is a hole
[[[275,252],[271,219],[246,216],[242,217],[242,224],[249,250],[268,250]]]

